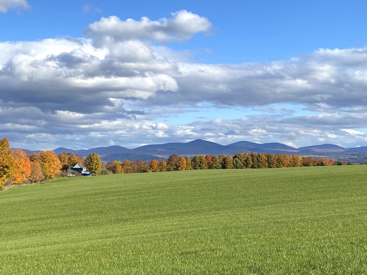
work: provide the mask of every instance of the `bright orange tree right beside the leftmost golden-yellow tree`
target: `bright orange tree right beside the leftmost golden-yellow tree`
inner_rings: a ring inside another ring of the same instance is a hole
[[[14,173],[12,175],[13,183],[23,183],[28,179],[32,172],[28,155],[20,149],[11,152],[14,162]]]

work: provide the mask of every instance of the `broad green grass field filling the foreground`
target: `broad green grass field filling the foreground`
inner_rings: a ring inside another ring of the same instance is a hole
[[[0,192],[0,274],[367,274],[367,166],[63,178]]]

